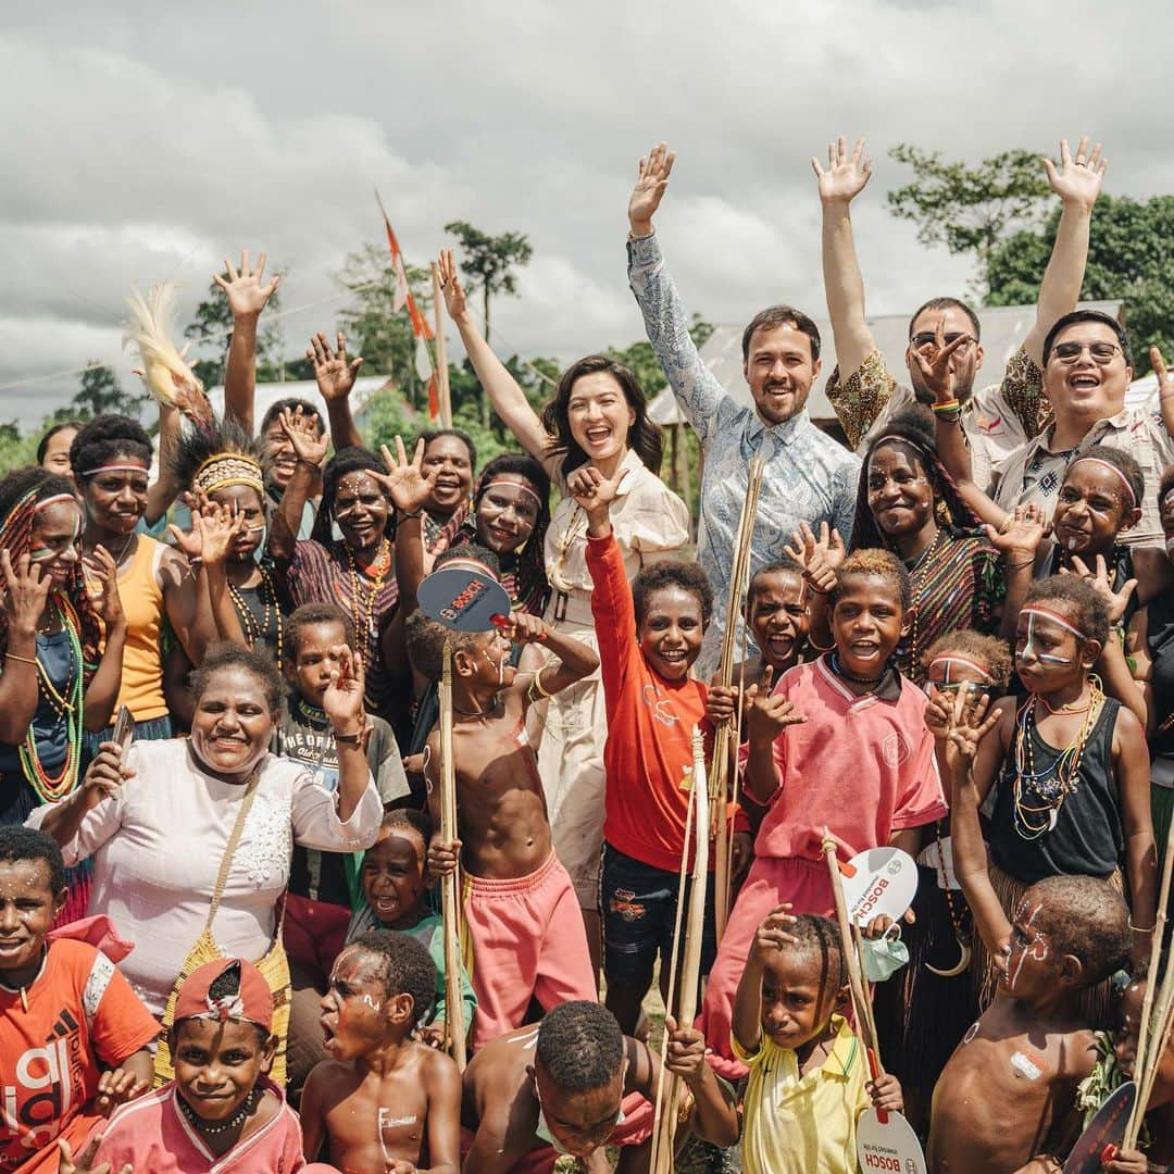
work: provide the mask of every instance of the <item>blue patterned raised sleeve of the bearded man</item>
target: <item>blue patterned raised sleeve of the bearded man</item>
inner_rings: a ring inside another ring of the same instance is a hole
[[[722,414],[730,414],[735,405],[697,353],[655,234],[628,242],[628,284],[673,394],[704,447],[721,427]]]

